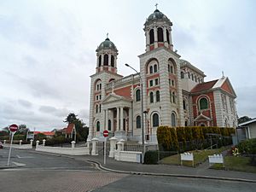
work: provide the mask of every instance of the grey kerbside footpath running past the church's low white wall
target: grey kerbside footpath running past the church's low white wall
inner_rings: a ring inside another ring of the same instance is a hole
[[[26,150],[31,153],[49,154],[45,152],[38,152],[34,149]],[[130,163],[113,160],[113,158],[107,157],[107,162],[103,164],[103,156],[91,156],[91,155],[62,155],[62,154],[49,154],[55,156],[65,156],[72,158],[73,160],[83,160],[90,163],[96,164],[100,169],[108,172],[119,172],[127,174],[137,174],[137,175],[152,175],[152,176],[166,176],[166,177],[198,177],[198,178],[208,178],[208,179],[221,179],[230,181],[240,181],[256,183],[256,173],[249,172],[234,172],[225,170],[213,170],[209,169],[207,162],[197,166],[197,167],[187,167],[187,166],[171,166],[171,165],[143,165],[138,163]],[[0,160],[0,169],[14,168],[17,165],[12,164],[11,166],[6,166],[6,161]],[[256,169],[256,167],[255,167]]]

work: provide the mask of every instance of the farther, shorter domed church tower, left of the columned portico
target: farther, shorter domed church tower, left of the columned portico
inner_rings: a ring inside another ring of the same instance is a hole
[[[118,49],[107,35],[96,49],[96,73],[90,76],[90,139],[104,130],[102,101],[107,96],[106,88],[111,81],[122,78],[117,73],[117,55]]]

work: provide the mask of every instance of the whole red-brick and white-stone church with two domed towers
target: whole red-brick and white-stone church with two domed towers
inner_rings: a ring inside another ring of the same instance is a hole
[[[118,138],[156,143],[160,125],[235,127],[236,93],[227,77],[205,82],[206,75],[173,50],[172,22],[160,10],[143,28],[145,53],[139,72],[117,73],[118,49],[106,38],[96,49],[96,73],[90,76],[89,138],[108,130]],[[127,65],[129,67],[129,65]],[[131,67],[132,68],[132,67]],[[216,72],[220,73],[220,72]]]

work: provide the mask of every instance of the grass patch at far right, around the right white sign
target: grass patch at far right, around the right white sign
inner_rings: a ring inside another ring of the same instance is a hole
[[[235,157],[235,156],[225,156],[224,157],[224,167],[227,170],[233,170],[238,172],[255,172],[256,166],[251,166],[249,164],[249,157]],[[222,165],[214,164],[211,166],[213,169],[223,169]]]

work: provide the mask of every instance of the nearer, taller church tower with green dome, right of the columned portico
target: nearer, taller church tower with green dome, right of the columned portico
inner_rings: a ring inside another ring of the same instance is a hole
[[[159,9],[148,16],[143,30],[146,52],[139,58],[145,126],[152,127],[154,137],[159,125],[183,125],[180,55],[173,51],[172,22]]]

